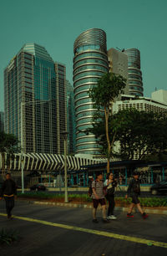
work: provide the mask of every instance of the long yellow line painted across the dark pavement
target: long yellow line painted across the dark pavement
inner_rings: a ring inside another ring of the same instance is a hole
[[[0,213],[0,216],[6,217],[7,214]],[[104,231],[99,231],[99,230],[94,230],[94,229],[89,229],[89,228],[79,228],[79,227],[64,225],[64,224],[60,224],[60,223],[51,223],[51,222],[47,222],[47,221],[43,221],[43,220],[39,220],[39,219],[35,219],[35,218],[20,217],[20,216],[15,216],[15,215],[13,215],[13,218],[18,218],[18,219],[21,219],[21,220],[24,220],[27,222],[31,222],[31,223],[41,223],[43,225],[57,227],[57,228],[66,228],[66,229],[76,230],[76,231],[80,231],[80,232],[84,232],[84,233],[93,233],[95,235],[104,236],[104,237],[108,237],[108,238],[121,239],[121,240],[134,242],[134,243],[144,243],[147,245],[152,244],[157,247],[167,248],[167,243],[158,242],[158,241],[154,241],[154,240],[148,240],[148,239],[144,239],[144,238],[135,238],[135,237],[129,237],[129,236],[125,236],[125,235],[120,235],[117,233],[109,233],[109,232],[104,232]]]

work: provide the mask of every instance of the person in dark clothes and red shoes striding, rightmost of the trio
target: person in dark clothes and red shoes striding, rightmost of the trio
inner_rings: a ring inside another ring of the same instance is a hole
[[[132,202],[129,206],[129,212],[127,213],[128,218],[133,218],[134,215],[132,214],[132,210],[134,206],[136,206],[139,210],[139,212],[142,215],[142,218],[148,218],[148,214],[146,214],[143,210],[142,207],[140,206],[139,202],[139,195],[140,195],[140,186],[139,186],[139,173],[134,172],[134,178],[129,182],[129,187],[127,190],[127,194],[125,195],[125,198],[127,197],[132,197]]]

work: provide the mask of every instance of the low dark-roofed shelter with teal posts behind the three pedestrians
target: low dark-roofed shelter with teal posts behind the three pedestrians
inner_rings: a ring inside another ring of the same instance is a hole
[[[107,176],[107,163],[81,166],[77,172],[68,172],[68,186],[88,187],[89,177],[96,177],[99,172],[103,172],[104,179]],[[127,186],[133,176],[134,170],[139,172],[141,185],[148,186],[155,182],[167,179],[167,162],[153,161],[111,161],[110,172],[118,179],[119,185]]]

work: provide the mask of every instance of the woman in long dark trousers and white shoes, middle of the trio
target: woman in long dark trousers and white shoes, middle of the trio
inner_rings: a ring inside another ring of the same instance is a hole
[[[107,219],[116,219],[116,217],[114,216],[114,192],[115,187],[117,187],[117,181],[116,179],[114,179],[114,175],[112,172],[109,173],[108,178],[104,182],[104,187],[107,187],[107,194],[105,197],[109,203]]]

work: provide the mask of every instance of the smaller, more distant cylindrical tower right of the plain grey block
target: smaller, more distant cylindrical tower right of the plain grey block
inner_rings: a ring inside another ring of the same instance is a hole
[[[129,95],[143,96],[142,72],[140,70],[139,49],[126,49],[124,53],[128,55],[129,69]]]

